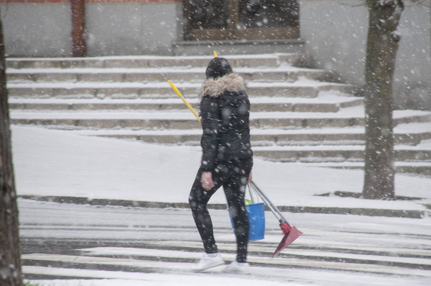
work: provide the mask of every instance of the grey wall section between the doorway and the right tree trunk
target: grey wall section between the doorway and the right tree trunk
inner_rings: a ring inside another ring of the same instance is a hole
[[[363,81],[368,14],[360,0],[300,0],[300,37],[315,64]]]

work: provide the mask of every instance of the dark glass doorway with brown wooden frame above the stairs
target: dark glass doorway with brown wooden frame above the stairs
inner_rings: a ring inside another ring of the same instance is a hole
[[[299,37],[297,0],[183,0],[185,40]]]

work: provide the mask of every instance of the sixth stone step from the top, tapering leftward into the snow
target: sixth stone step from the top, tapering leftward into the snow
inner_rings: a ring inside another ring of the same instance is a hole
[[[409,124],[406,124],[409,125]],[[431,139],[431,124],[416,124],[415,130],[394,128],[395,144],[418,145]],[[147,143],[199,145],[201,129],[189,130],[81,130],[74,131],[86,136],[112,137],[141,140]],[[320,129],[251,129],[252,146],[318,146],[318,145],[364,145],[364,127]]]

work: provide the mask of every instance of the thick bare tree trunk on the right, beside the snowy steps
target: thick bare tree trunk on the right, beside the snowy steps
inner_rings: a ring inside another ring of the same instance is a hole
[[[392,78],[400,40],[402,0],[366,0],[369,28],[365,62],[365,178],[363,197],[394,198]]]

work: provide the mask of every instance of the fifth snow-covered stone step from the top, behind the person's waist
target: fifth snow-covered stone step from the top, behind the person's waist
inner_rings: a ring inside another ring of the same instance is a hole
[[[69,125],[80,128],[199,128],[200,123],[187,111],[81,111],[31,112],[12,110],[13,124]],[[410,122],[429,122],[431,112],[395,111],[394,125]],[[250,114],[250,127],[256,128],[322,128],[364,125],[361,106],[345,108],[340,112],[256,112]]]

